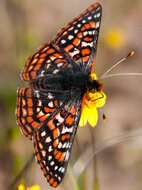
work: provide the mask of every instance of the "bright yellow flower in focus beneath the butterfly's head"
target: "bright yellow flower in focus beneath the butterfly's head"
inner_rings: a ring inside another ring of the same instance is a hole
[[[94,80],[97,80],[95,74],[91,74]],[[106,102],[106,95],[102,92],[89,92],[86,94],[84,106],[82,109],[79,126],[83,127],[88,123],[95,127],[98,121],[98,111],[97,108],[104,106]]]

